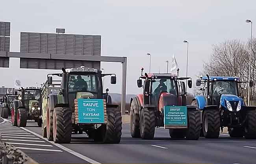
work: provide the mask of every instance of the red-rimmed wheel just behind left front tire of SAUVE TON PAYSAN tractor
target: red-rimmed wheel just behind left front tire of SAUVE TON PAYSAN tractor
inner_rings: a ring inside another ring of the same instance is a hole
[[[50,99],[49,99],[47,102],[47,109],[46,109],[46,137],[48,141],[53,141],[52,120],[53,120],[53,110],[51,109]]]

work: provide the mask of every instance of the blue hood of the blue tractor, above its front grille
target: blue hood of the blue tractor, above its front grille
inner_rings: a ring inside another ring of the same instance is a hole
[[[232,94],[222,94],[220,100],[221,106],[227,108],[227,101],[230,103],[233,110],[236,110],[239,101],[241,103],[241,106],[243,106],[242,98],[239,98],[238,96]]]

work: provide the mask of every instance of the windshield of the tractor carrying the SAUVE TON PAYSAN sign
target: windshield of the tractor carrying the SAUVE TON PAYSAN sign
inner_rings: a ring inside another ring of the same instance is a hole
[[[69,92],[98,92],[96,75],[70,75]]]

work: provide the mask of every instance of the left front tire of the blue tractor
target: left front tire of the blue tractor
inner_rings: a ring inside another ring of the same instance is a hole
[[[205,138],[219,138],[221,118],[217,109],[209,109],[203,114],[203,132]]]

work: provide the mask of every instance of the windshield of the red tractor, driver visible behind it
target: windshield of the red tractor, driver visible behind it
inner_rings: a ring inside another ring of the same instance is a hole
[[[155,79],[152,83],[152,101],[158,101],[161,92],[168,92],[177,95],[176,85],[174,80],[168,78]]]

